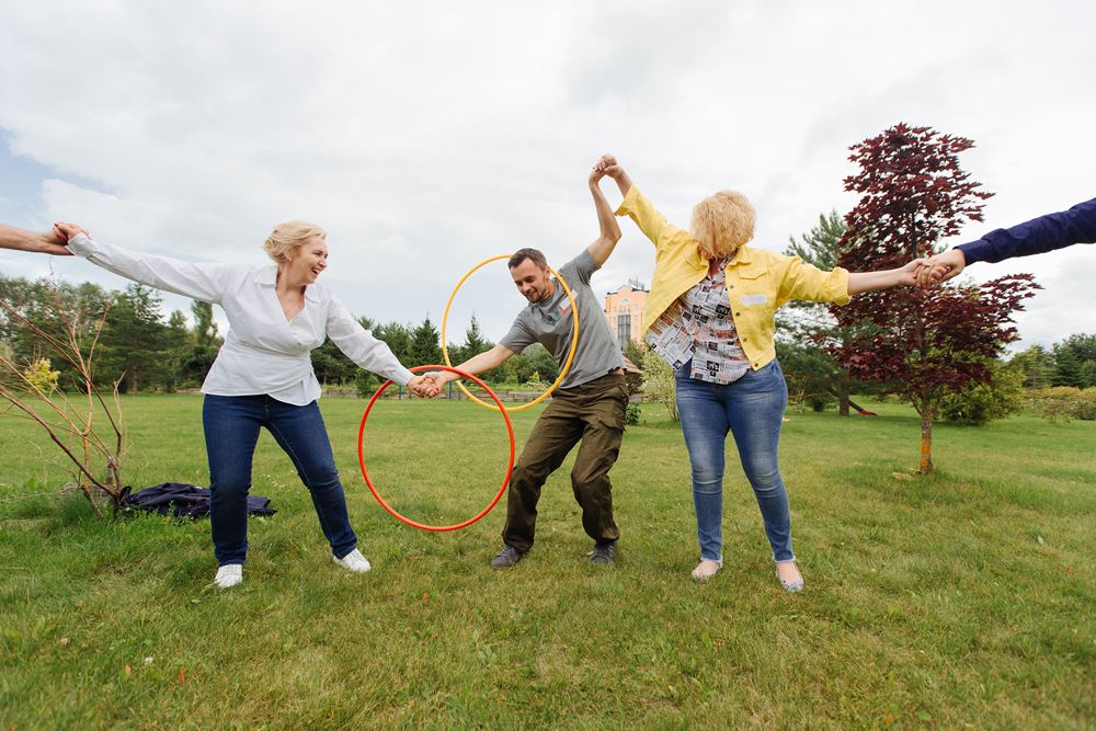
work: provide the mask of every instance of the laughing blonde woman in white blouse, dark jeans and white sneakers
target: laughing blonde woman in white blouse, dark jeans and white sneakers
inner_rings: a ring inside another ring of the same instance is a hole
[[[307,221],[279,224],[263,248],[273,264],[192,263],[92,240],[75,224],[55,232],[76,254],[134,282],[220,305],[229,331],[209,374],[202,421],[209,458],[209,517],[221,589],[242,581],[248,551],[247,498],[260,427],[274,436],[308,488],[335,563],[358,573],[369,562],[357,549],[327,429],[317,407],[320,385],[309,352],[326,338],[367,370],[437,392],[433,381],[400,365],[323,285],[327,233]]]

